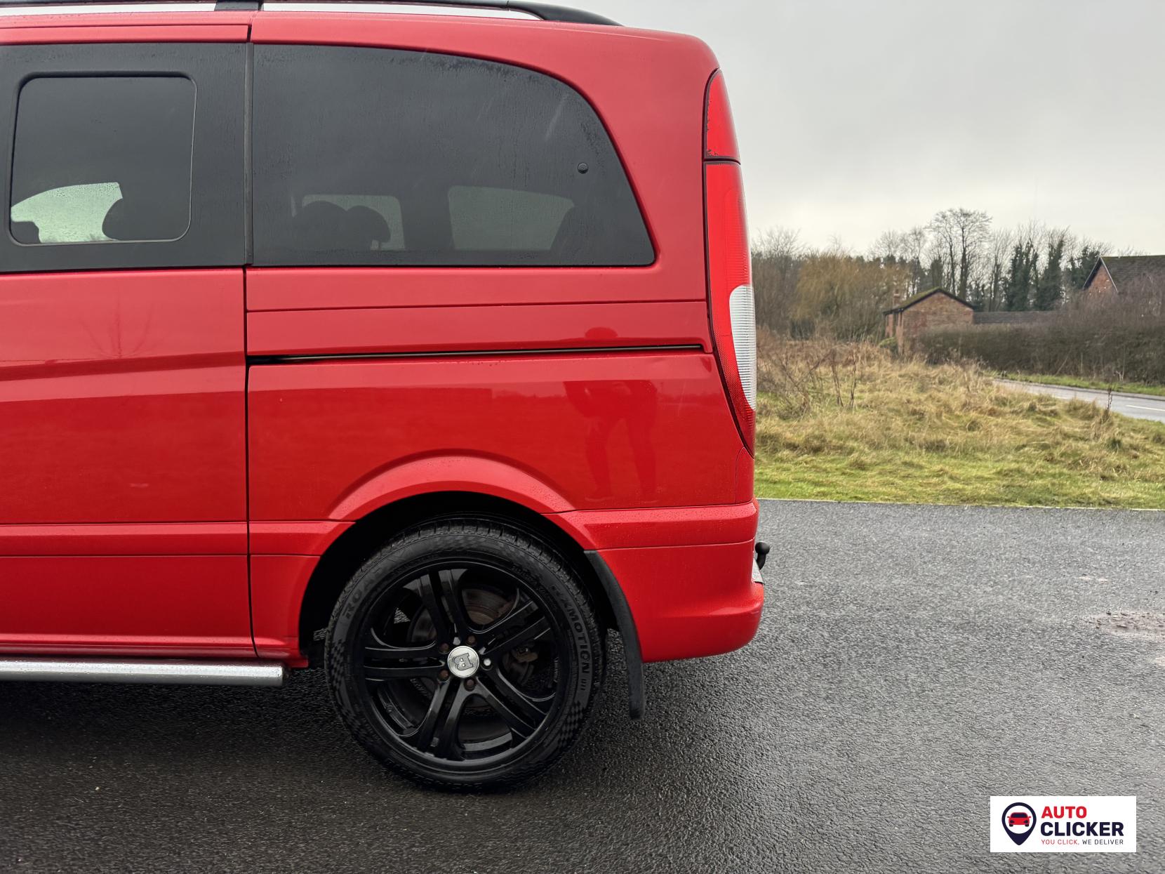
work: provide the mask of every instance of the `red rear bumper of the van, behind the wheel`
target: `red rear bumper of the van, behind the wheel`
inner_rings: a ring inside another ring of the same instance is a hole
[[[622,519],[564,515],[586,523],[596,541],[627,599],[644,662],[727,653],[756,634],[764,587],[753,582],[755,501],[628,510]]]

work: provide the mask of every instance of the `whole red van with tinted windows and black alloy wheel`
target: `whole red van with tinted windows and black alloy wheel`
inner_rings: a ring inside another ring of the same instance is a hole
[[[0,2],[0,678],[322,665],[424,784],[761,615],[698,40],[539,3]],[[761,562],[763,564],[763,561]]]

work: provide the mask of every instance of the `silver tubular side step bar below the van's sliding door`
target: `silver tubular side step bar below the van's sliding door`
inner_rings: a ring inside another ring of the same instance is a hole
[[[282,662],[203,662],[181,658],[35,658],[0,656],[0,681],[36,683],[170,683],[281,686]]]

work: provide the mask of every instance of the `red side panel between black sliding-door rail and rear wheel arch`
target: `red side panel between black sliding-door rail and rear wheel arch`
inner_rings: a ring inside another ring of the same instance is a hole
[[[363,482],[442,458],[466,487],[476,460],[490,493],[495,471],[513,471],[534,484],[517,494],[542,486],[557,509],[728,503],[740,438],[723,407],[715,361],[700,352],[256,366],[252,517],[362,514],[375,507],[341,508]],[[398,484],[391,496],[407,492]]]

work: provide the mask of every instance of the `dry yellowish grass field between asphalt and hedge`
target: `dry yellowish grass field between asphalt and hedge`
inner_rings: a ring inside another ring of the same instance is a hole
[[[758,339],[762,496],[1165,508],[1165,425],[1005,389],[974,365]]]

